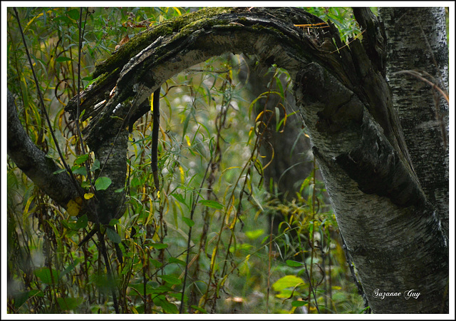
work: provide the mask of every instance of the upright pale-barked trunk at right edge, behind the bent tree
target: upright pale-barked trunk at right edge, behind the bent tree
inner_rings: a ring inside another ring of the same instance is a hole
[[[389,85],[413,168],[448,235],[448,93],[445,8],[380,8],[388,36]],[[418,73],[418,75],[409,72]]]

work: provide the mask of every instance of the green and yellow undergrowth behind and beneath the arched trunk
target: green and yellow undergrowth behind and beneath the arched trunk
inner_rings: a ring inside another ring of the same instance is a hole
[[[103,164],[80,141],[63,107],[78,92],[78,80],[81,88],[88,86],[95,63],[126,36],[190,11],[90,10],[19,10],[57,144],[73,164],[86,199],[111,181],[99,175]],[[346,36],[356,34],[348,10],[318,12],[344,24]],[[9,90],[32,141],[59,163],[12,11],[7,18]],[[8,160],[9,312],[113,313],[118,308],[177,313],[182,302],[182,312],[198,313],[288,313],[304,307],[308,312],[361,312],[316,165],[290,202],[270,199],[263,188],[259,137],[266,118],[252,119],[259,99],[249,97],[237,80],[242,68],[237,59],[209,59],[162,86],[160,193],[151,183],[152,118],[147,114],[135,123],[128,181],[125,190],[118,190],[125,191],[128,207],[100,232],[106,236],[109,265],[98,250],[99,239],[80,244],[94,228],[86,215],[78,217],[81,200],[71,200],[63,211]],[[278,92],[262,97],[283,98],[287,90],[280,84]],[[279,113],[274,122],[280,131],[284,119]],[[285,220],[279,235],[272,235],[268,214],[277,211]]]

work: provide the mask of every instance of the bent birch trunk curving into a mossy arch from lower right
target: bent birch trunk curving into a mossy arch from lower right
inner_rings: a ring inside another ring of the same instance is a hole
[[[276,63],[294,81],[296,105],[373,312],[447,312],[447,239],[413,170],[393,107],[385,34],[368,9],[355,14],[366,32],[350,46],[343,46],[332,24],[294,26],[323,22],[301,9],[209,8],[160,24],[97,66],[94,76],[100,78],[81,93],[81,111],[92,116],[83,133],[97,155],[105,155],[100,151],[108,141],[119,144],[117,157],[125,148],[125,128],[148,111],[147,97],[176,73],[225,52]],[[73,115],[75,102],[66,108]],[[120,139],[112,141],[113,135]],[[125,173],[126,158],[113,168]],[[125,183],[122,175],[113,176]],[[122,205],[120,198],[113,202],[111,208]],[[408,290],[420,297],[375,295]]]

